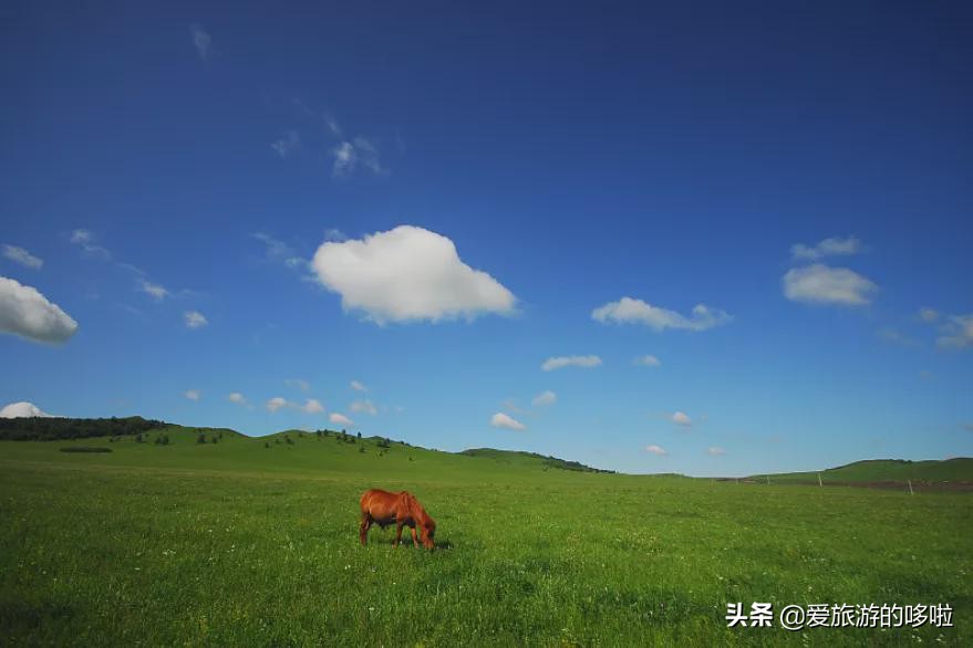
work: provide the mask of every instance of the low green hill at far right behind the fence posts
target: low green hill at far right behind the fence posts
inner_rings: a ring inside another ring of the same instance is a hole
[[[905,484],[908,481],[911,481],[913,485],[973,484],[973,459],[969,457],[942,461],[870,459],[829,468],[820,472],[758,474],[748,479],[763,481],[769,477],[772,483],[816,484],[819,474],[824,484],[891,485]]]

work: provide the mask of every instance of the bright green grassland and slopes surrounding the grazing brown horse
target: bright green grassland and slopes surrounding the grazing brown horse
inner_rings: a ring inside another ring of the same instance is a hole
[[[967,494],[166,433],[0,442],[0,642],[973,645]],[[442,548],[377,527],[361,547],[370,487],[414,492]],[[955,627],[727,628],[726,604],[754,600],[949,603]]]

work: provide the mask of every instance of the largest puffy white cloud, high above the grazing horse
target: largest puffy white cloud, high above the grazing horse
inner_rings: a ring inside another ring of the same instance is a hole
[[[453,241],[413,226],[325,242],[312,266],[341,295],[345,311],[361,310],[379,324],[508,315],[517,301],[489,274],[460,261]]]

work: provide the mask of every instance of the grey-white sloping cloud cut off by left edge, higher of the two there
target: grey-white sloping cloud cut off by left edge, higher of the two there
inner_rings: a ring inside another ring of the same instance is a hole
[[[60,344],[77,331],[77,322],[37,289],[0,276],[0,333],[33,342]]]

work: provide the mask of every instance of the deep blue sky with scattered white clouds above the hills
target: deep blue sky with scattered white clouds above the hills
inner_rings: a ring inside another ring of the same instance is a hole
[[[973,454],[973,10],[522,4],[4,4],[0,406]]]

